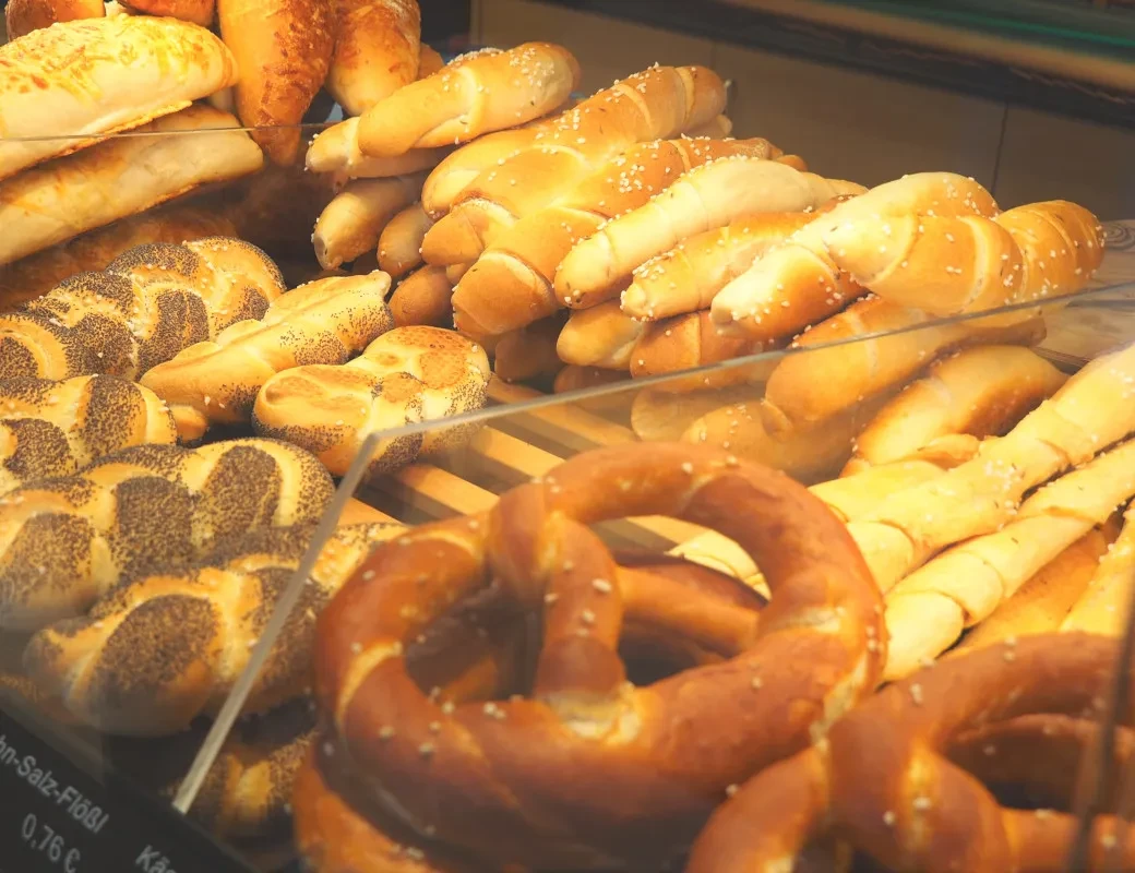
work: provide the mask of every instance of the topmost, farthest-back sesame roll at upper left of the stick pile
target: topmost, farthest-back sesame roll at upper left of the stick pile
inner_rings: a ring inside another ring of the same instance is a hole
[[[465,143],[562,106],[579,77],[572,53],[545,42],[466,54],[370,107],[359,119],[359,148],[389,158]]]

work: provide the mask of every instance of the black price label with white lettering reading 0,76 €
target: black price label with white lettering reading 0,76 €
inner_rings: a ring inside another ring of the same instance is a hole
[[[0,873],[252,873],[169,806],[0,696]]]

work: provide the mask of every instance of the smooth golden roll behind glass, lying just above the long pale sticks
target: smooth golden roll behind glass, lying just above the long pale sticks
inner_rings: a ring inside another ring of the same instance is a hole
[[[880,411],[856,439],[848,470],[901,461],[951,434],[978,439],[1003,434],[1066,379],[1028,349],[965,349],[932,364]]]

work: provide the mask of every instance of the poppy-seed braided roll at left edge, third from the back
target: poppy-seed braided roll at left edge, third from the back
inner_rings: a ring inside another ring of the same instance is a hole
[[[0,498],[0,628],[81,615],[222,537],[317,519],[333,492],[314,458],[270,439],[135,446],[28,482]]]

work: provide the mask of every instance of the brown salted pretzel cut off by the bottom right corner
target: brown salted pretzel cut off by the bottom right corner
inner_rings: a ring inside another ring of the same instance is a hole
[[[824,741],[747,782],[711,819],[687,871],[791,870],[805,843],[826,833],[889,870],[1063,871],[1075,817],[1001,807],[983,781],[1069,803],[1118,660],[1105,637],[1039,635],[891,685]],[[1130,732],[1120,728],[1118,740],[1117,765],[1130,757]],[[1091,870],[1135,868],[1126,831],[1112,816],[1095,820]]]

